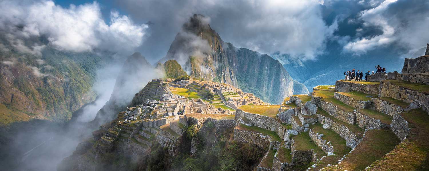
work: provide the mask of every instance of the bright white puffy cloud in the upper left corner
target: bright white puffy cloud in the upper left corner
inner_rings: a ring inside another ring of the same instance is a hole
[[[131,53],[142,44],[148,28],[116,11],[111,12],[110,23],[106,24],[96,2],[63,8],[51,0],[5,0],[0,2],[0,16],[0,31],[9,34],[10,44],[23,53],[36,55],[43,46],[29,46],[25,41],[41,36],[58,50]]]

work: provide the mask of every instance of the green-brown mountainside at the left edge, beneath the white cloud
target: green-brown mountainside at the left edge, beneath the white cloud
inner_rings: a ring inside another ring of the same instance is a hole
[[[42,56],[0,52],[0,126],[31,118],[68,121],[95,99],[91,90],[100,58],[49,47]]]

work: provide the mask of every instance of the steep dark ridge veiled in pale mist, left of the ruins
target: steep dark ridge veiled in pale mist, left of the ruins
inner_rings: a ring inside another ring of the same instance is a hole
[[[116,79],[109,101],[97,112],[94,123],[103,124],[116,117],[116,113],[131,103],[134,94],[155,77],[154,68],[140,53],[134,53],[124,62]]]

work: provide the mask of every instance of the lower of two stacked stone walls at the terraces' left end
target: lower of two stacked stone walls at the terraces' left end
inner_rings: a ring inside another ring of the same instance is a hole
[[[264,136],[262,133],[257,133],[248,130],[234,129],[234,140],[239,142],[251,143],[264,149],[270,149],[270,136]]]

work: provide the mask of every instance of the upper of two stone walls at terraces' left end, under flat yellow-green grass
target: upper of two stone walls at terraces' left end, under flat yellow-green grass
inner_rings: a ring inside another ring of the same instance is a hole
[[[266,129],[266,130],[277,132],[278,127],[281,127],[281,125],[275,120],[275,118],[271,118],[271,117],[259,115],[259,114],[254,114],[254,113],[248,113],[248,112],[244,112],[241,109],[237,109],[236,110],[236,120],[240,120],[243,117],[247,118],[249,121],[251,121],[252,125]]]

